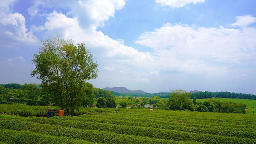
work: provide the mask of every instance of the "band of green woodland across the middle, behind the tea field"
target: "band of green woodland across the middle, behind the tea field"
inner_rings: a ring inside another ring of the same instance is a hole
[[[176,94],[175,92],[178,92]],[[114,93],[114,94],[113,94]],[[161,94],[161,93],[157,93]],[[220,102],[209,99],[205,102],[197,102],[201,98],[255,98],[255,95],[237,94],[230,92],[198,92],[190,94],[188,92],[173,91],[168,98],[161,96],[151,96],[134,98],[123,96],[121,101],[116,102],[116,92],[94,88],[92,84],[86,83],[85,97],[82,100],[82,107],[92,107],[96,104],[98,108],[126,108],[126,106],[144,106],[151,104],[154,108],[171,110],[189,110],[199,112],[228,112],[245,113],[245,104],[236,102]],[[0,85],[0,104],[26,104],[29,106],[49,106],[54,104],[54,97],[49,96],[40,86],[40,84],[1,84]],[[193,99],[193,100],[192,100]],[[96,101],[95,101],[96,100]],[[138,107],[135,107],[138,108]]]

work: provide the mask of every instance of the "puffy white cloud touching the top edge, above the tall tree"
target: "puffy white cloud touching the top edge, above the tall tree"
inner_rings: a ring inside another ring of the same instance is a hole
[[[125,5],[125,0],[34,0],[33,5],[28,8],[31,16],[44,12],[44,7],[49,8],[68,8],[67,13],[76,17],[80,27],[95,29],[104,26],[104,21],[114,17],[115,11],[120,10]]]

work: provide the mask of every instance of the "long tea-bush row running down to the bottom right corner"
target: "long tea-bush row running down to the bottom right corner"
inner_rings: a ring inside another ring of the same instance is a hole
[[[207,144],[228,144],[228,143],[256,143],[255,139],[249,138],[237,138],[237,137],[226,137],[226,136],[217,136],[212,134],[196,134],[192,132],[182,132],[178,130],[165,130],[159,128],[149,128],[142,126],[126,126],[126,125],[116,125],[116,124],[107,124],[107,123],[96,123],[96,122],[81,122],[81,121],[72,121],[72,120],[54,120],[54,119],[34,119],[34,122],[40,124],[52,124],[55,126],[62,127],[72,127],[80,128],[86,130],[99,130],[99,131],[109,131],[116,134],[126,134],[126,135],[135,135],[135,136],[144,136],[157,139],[165,140],[179,140],[179,141],[196,141]],[[229,132],[232,133],[232,132]],[[242,137],[246,133],[237,132]],[[235,136],[234,134],[233,136]],[[253,136],[254,134],[249,133],[247,136]]]

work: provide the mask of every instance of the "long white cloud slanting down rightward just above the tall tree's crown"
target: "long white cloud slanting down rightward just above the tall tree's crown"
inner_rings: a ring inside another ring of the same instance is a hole
[[[48,36],[60,35],[65,39],[73,39],[75,42],[84,42],[96,56],[106,62],[145,67],[147,65],[142,62],[152,61],[152,56],[148,52],[139,52],[132,47],[125,46],[121,39],[113,40],[94,28],[80,27],[76,17],[69,18],[65,14],[54,11],[48,14],[46,19],[44,26],[34,30],[46,30]]]

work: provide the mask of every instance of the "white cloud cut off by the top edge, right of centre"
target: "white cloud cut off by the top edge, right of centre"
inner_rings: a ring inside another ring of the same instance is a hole
[[[156,0],[155,2],[162,6],[171,6],[174,8],[185,6],[186,4],[197,4],[198,2],[204,2],[205,0]]]

